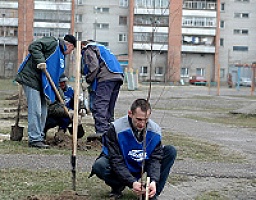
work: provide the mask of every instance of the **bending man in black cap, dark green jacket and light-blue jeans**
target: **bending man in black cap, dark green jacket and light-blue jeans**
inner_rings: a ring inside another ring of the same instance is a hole
[[[76,38],[66,35],[64,40],[55,37],[43,37],[32,42],[29,54],[20,65],[15,81],[23,86],[28,104],[28,145],[41,149],[49,148],[44,141],[44,126],[47,116],[47,99],[55,100],[55,94],[41,71],[41,65],[47,65],[58,83],[65,69],[65,55],[76,47]]]

